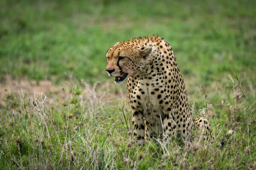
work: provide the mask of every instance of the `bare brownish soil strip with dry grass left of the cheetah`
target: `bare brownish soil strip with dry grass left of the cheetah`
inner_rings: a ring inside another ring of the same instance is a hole
[[[72,91],[77,88],[78,84],[68,81],[62,82],[59,85],[53,84],[50,80],[28,80],[26,78],[13,79],[10,76],[5,77],[4,84],[0,84],[0,102],[3,102],[6,94],[27,94],[32,96],[43,93],[48,99],[69,99],[72,97]],[[107,103],[116,100],[128,99],[127,93],[124,90],[125,85],[117,86],[112,82],[95,83],[93,85],[81,81],[79,89],[81,89],[81,96],[96,100],[100,103]]]

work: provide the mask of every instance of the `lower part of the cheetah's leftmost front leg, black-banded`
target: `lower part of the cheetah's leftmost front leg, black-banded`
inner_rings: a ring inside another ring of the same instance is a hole
[[[134,108],[134,107],[132,107]],[[137,138],[137,141],[140,145],[143,145],[145,142],[145,124],[143,120],[143,109],[134,108],[132,113],[132,125],[133,125],[133,134]]]

